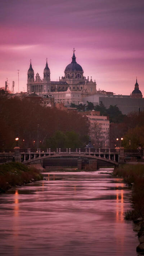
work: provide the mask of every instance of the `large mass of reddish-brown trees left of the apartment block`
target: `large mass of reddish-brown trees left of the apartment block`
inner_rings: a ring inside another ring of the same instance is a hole
[[[20,148],[84,147],[89,122],[77,112],[42,107],[25,99],[0,96],[0,149],[13,148],[19,137]],[[61,141],[60,141],[61,140]]]

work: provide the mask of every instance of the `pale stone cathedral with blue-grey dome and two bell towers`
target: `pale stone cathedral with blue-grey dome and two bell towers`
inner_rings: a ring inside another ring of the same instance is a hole
[[[39,73],[34,77],[34,71],[30,62],[30,68],[27,73],[27,93],[36,93],[45,96],[46,94],[53,95],[57,98],[58,93],[63,96],[63,103],[65,102],[66,93],[73,92],[81,94],[92,95],[96,94],[96,82],[89,80],[89,77],[84,76],[84,71],[80,64],[76,62],[75,49],[73,49],[72,62],[68,64],[64,70],[64,76],[59,77],[59,81],[50,80],[50,69],[46,59],[46,66],[44,68],[44,76],[41,79]],[[80,98],[81,96],[78,96]],[[59,97],[58,97],[59,98]],[[75,96],[73,98],[76,98]],[[67,100],[66,100],[67,101]],[[71,103],[73,100],[70,100]],[[78,103],[78,102],[77,102]]]

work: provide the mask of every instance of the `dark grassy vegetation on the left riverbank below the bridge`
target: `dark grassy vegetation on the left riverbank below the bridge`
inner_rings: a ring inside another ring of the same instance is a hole
[[[43,176],[37,169],[18,162],[10,162],[0,165],[0,193],[32,181],[42,180]]]

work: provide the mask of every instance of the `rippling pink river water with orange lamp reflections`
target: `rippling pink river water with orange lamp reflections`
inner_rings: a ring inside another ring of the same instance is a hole
[[[1,194],[0,255],[136,256],[131,191],[106,171],[49,172]]]

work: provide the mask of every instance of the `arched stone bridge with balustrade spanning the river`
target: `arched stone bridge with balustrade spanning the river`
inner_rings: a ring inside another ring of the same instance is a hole
[[[11,150],[0,150],[0,162],[17,161],[23,164],[41,163],[43,166],[48,165],[65,165],[72,166],[72,159],[77,161],[78,169],[82,165],[88,164],[89,169],[96,169],[98,165],[118,166],[125,163],[127,158],[140,158],[139,150],[119,149],[20,149],[18,146]]]

